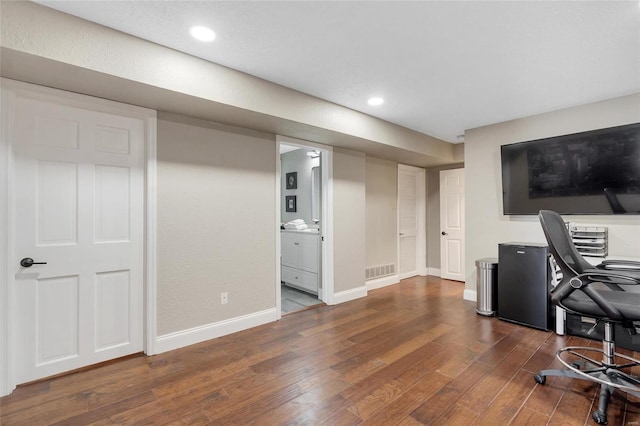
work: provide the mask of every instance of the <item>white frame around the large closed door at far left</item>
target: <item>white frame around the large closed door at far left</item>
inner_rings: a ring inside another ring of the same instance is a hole
[[[14,258],[15,170],[13,161],[13,113],[19,94],[35,99],[55,100],[63,105],[99,112],[126,115],[142,120],[144,140],[144,217],[143,217],[143,350],[156,353],[157,337],[157,112],[152,109],[45,86],[0,78],[0,396],[10,394],[17,383],[12,374],[15,309],[10,259]]]

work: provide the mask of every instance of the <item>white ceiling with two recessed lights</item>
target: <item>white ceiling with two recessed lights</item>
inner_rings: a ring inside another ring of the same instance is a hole
[[[638,0],[37,3],[450,142],[640,92]]]

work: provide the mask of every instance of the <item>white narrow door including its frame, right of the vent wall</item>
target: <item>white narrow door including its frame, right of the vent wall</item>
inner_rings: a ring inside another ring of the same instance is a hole
[[[398,257],[400,279],[426,275],[425,171],[398,166]]]

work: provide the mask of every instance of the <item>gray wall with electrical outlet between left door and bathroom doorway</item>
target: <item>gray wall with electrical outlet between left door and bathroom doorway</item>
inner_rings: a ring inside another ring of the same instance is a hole
[[[158,120],[159,335],[275,307],[275,156],[272,135]]]

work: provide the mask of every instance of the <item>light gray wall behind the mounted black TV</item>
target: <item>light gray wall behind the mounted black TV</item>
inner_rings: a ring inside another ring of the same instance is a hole
[[[502,214],[500,146],[640,122],[640,94],[465,132],[466,290],[475,291],[476,259],[497,257],[498,243],[545,242],[535,216]],[[640,258],[640,216],[565,216],[609,228],[609,255]]]

